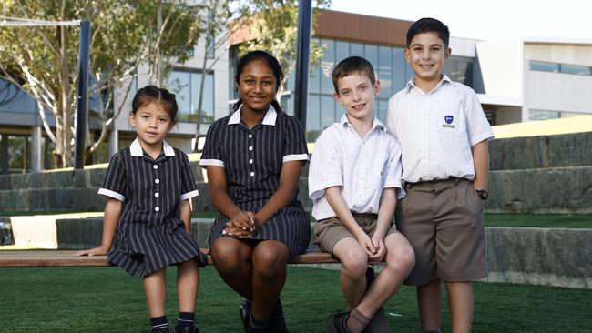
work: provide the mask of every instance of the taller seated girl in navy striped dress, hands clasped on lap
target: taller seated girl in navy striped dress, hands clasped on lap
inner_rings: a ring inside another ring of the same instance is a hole
[[[309,155],[300,124],[275,100],[282,77],[267,52],[240,59],[240,100],[232,115],[209,127],[199,162],[220,213],[209,235],[210,254],[220,277],[247,299],[240,311],[247,332],[287,332],[279,299],[286,265],[311,238],[296,198]]]

